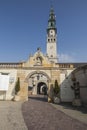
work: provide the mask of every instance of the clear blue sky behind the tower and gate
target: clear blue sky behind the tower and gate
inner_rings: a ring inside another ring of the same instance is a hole
[[[0,0],[0,62],[46,53],[51,0]],[[59,62],[87,62],[87,0],[53,0]]]

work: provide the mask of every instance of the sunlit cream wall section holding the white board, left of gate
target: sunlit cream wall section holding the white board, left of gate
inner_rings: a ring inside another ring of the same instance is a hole
[[[11,100],[14,97],[16,76],[15,69],[0,70],[0,100]]]

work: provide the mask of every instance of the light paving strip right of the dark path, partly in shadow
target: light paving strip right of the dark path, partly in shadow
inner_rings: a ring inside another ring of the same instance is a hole
[[[62,111],[63,113],[67,114],[68,116],[87,124],[87,108],[73,107],[72,104],[69,103],[51,105],[57,108],[59,111]]]

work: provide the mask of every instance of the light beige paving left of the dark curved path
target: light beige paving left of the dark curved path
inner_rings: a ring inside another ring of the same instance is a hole
[[[22,102],[0,101],[0,130],[27,130],[21,106]]]

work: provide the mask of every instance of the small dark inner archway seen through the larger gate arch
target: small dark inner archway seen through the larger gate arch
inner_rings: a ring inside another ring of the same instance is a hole
[[[47,95],[47,85],[44,82],[39,82],[37,84],[37,94]]]

